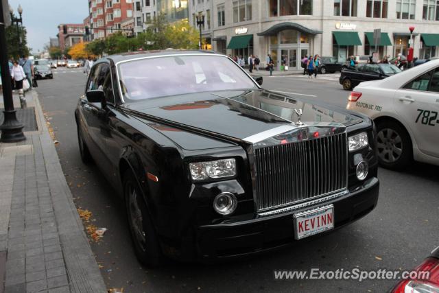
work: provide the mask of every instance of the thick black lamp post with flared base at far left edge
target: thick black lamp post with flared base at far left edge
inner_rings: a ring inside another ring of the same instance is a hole
[[[1,83],[3,84],[3,102],[5,104],[4,120],[0,126],[3,143],[15,143],[26,139],[23,134],[23,124],[16,119],[14,99],[12,99],[11,75],[8,65],[8,52],[6,47],[5,19],[3,17],[3,1],[0,1],[0,68]]]

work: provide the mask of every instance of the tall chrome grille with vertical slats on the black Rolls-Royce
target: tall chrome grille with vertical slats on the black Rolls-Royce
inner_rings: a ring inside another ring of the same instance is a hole
[[[254,154],[258,211],[346,188],[346,133],[257,148]]]

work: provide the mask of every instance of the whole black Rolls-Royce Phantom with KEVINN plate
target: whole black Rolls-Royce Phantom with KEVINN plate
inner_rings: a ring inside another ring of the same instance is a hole
[[[75,110],[80,154],[126,202],[141,262],[268,251],[375,208],[373,122],[260,84],[211,51],[95,63]]]

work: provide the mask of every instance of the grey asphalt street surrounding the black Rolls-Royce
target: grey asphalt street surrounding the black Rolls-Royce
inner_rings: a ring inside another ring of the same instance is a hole
[[[263,78],[266,89],[346,106],[348,92],[337,74]],[[59,68],[54,80],[38,80],[36,91],[59,141],[56,149],[76,207],[91,211],[93,225],[108,229],[99,242],[91,242],[107,288],[126,293],[384,292],[397,280],[275,280],[274,270],[410,270],[439,245],[439,167],[414,163],[407,172],[380,168],[377,208],[329,235],[228,263],[169,260],[161,268],[143,268],[134,255],[123,203],[99,169],[80,159],[73,113],[85,82],[82,68]]]

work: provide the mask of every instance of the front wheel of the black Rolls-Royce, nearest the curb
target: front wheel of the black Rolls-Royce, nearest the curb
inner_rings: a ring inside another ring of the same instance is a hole
[[[137,258],[145,266],[160,266],[163,256],[158,244],[158,237],[139,184],[130,170],[127,170],[123,175],[123,196]]]

